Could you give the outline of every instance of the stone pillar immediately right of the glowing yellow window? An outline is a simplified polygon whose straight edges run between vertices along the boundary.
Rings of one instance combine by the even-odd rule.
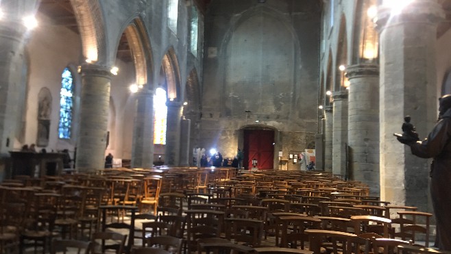
[[[180,166],[180,118],[182,117],[182,103],[168,101],[166,146],[164,151],[164,164],[167,166]]]

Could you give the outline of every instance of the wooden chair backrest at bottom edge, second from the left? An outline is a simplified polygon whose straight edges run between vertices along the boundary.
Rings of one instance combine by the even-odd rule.
[[[116,232],[95,232],[91,238],[91,252],[94,253],[105,253],[106,250],[114,250],[116,254],[122,254],[125,246],[125,240],[127,235]],[[108,244],[106,244],[106,240]]]

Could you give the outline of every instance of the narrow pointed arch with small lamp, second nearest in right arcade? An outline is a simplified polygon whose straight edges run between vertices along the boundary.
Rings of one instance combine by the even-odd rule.
[[[338,38],[338,47],[337,47],[337,58],[335,62],[335,84],[334,91],[339,91],[344,89],[345,86],[345,69],[340,70],[339,67],[341,65],[348,65],[348,39],[347,39],[347,31],[346,31],[346,17],[344,14],[341,15],[340,19],[340,29],[339,29],[339,38]]]

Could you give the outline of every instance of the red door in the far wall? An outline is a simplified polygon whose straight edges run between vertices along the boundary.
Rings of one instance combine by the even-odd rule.
[[[244,131],[244,166],[252,168],[252,160],[257,160],[258,169],[274,167],[274,131]]]

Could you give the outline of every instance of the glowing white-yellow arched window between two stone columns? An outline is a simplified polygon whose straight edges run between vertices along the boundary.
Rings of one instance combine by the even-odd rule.
[[[166,91],[156,88],[154,95],[154,144],[166,144]]]

